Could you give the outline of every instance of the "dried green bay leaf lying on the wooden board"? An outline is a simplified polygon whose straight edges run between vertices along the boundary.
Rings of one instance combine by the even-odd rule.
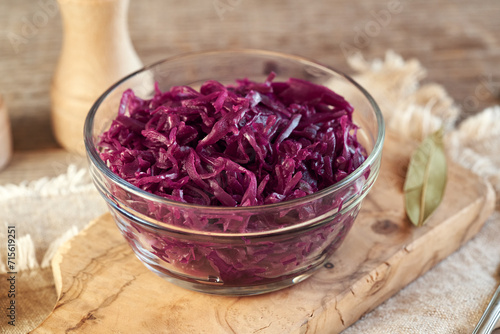
[[[446,188],[447,163],[443,130],[427,136],[413,152],[404,184],[406,214],[423,226],[441,203]]]

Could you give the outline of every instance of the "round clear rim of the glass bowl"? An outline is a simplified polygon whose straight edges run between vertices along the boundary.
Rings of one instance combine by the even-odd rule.
[[[278,202],[278,203],[272,203],[272,204],[263,204],[263,205],[254,205],[254,206],[238,206],[238,207],[229,207],[229,206],[209,206],[209,205],[200,205],[200,204],[192,204],[192,203],[183,203],[183,202],[177,202],[173,201],[167,198],[164,198],[159,195],[152,194],[150,192],[147,192],[143,189],[140,189],[139,187],[134,186],[133,184],[127,182],[126,180],[120,178],[118,175],[113,173],[111,169],[106,165],[106,163],[100,158],[98,151],[94,147],[93,143],[93,123],[94,123],[94,118],[95,115],[101,106],[101,104],[104,102],[104,100],[115,90],[117,89],[121,84],[126,82],[127,80],[133,78],[134,76],[146,72],[150,69],[153,69],[163,63],[166,62],[172,62],[176,61],[182,58],[188,58],[188,57],[202,57],[202,56],[210,56],[210,55],[217,55],[217,54],[247,54],[247,55],[260,55],[260,56],[271,56],[275,58],[280,58],[280,59],[287,59],[287,60],[293,60],[296,61],[297,63],[302,63],[304,65],[311,65],[315,68],[321,68],[322,70],[326,72],[332,72],[336,75],[339,75],[346,79],[351,85],[353,85],[357,90],[359,90],[364,97],[367,99],[371,107],[373,108],[373,111],[375,113],[375,118],[377,121],[377,134],[375,138],[375,144],[373,146],[372,151],[370,154],[366,157],[365,161],[358,167],[356,168],[352,173],[350,173],[348,176],[346,176],[344,179],[341,181],[332,184],[324,189],[321,189],[313,194],[306,195],[304,197],[288,200],[288,201],[283,201],[283,202]],[[174,55],[171,57],[164,58],[162,60],[159,60],[157,62],[154,62],[150,65],[144,66],[141,69],[138,69],[129,75],[123,77],[122,79],[118,80],[115,82],[113,85],[111,85],[104,93],[102,93],[99,98],[94,102],[92,107],[90,108],[86,118],[85,118],[85,123],[84,123],[84,142],[85,142],[85,151],[87,154],[87,158],[90,160],[90,162],[98,168],[98,170],[103,173],[107,178],[111,179],[113,182],[117,183],[120,187],[123,189],[141,196],[143,198],[146,198],[152,202],[155,203],[162,203],[162,204],[167,204],[169,206],[173,206],[176,208],[189,208],[189,209],[202,209],[207,212],[211,211],[217,211],[218,213],[220,212],[227,212],[227,213],[235,213],[237,214],[238,212],[247,212],[247,211],[264,211],[264,210],[275,210],[277,208],[284,208],[286,206],[295,206],[297,204],[301,203],[307,203],[314,201],[316,199],[319,199],[321,197],[324,197],[328,194],[331,194],[335,191],[338,191],[339,189],[342,189],[344,186],[347,184],[353,182],[354,180],[358,179],[365,171],[368,169],[376,159],[378,159],[381,154],[382,154],[382,148],[383,148],[383,143],[384,143],[384,137],[385,137],[385,122],[384,118],[382,115],[382,112],[373,99],[373,97],[366,91],[364,87],[362,87],[360,84],[358,84],[354,79],[352,79],[350,76],[344,74],[341,71],[338,71],[330,66],[324,65],[322,63],[319,63],[315,60],[303,57],[303,56],[298,56],[294,54],[288,54],[288,53],[282,53],[282,52],[276,52],[276,51],[269,51],[269,50],[261,50],[261,49],[223,49],[223,50],[208,50],[208,51],[196,51],[196,52],[188,52],[188,53],[181,53],[178,55]],[[346,208],[343,208],[346,209]],[[344,210],[339,210],[338,212],[341,212]],[[168,224],[171,226],[170,224]],[[295,225],[293,225],[295,226]],[[189,229],[188,229],[189,230]],[[193,231],[193,230],[190,230]],[[244,234],[244,233],[241,233]]]

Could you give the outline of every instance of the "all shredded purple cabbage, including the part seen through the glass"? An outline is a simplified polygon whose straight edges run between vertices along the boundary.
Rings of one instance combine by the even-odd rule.
[[[359,210],[335,215],[359,195],[360,182],[313,201],[273,210],[207,214],[204,206],[255,207],[313,194],[358,168],[353,107],[330,89],[301,79],[224,86],[203,83],[160,91],[144,100],[127,90],[118,116],[98,142],[102,160],[132,185],[192,209],[140,198],[119,187],[112,195],[141,214],[203,232],[277,230],[311,219],[322,223],[284,235],[219,237],[139,224],[113,211],[122,233],[155,270],[227,285],[267,284],[307,272],[342,243]]]

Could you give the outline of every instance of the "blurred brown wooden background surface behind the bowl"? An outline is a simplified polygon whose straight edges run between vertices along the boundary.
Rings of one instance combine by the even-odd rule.
[[[144,64],[198,50],[259,48],[351,73],[346,56],[393,50],[416,58],[463,112],[498,103],[498,0],[130,0],[128,25]],[[50,84],[62,44],[56,0],[1,0],[0,95],[15,152],[57,148]],[[26,138],[31,138],[26,140]]]

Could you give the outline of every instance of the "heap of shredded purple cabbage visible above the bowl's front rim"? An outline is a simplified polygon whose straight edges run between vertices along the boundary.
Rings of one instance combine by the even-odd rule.
[[[358,168],[366,152],[353,107],[324,86],[273,79],[156,86],[149,100],[127,90],[100,137],[101,158],[150,193],[229,207],[303,197]]]

